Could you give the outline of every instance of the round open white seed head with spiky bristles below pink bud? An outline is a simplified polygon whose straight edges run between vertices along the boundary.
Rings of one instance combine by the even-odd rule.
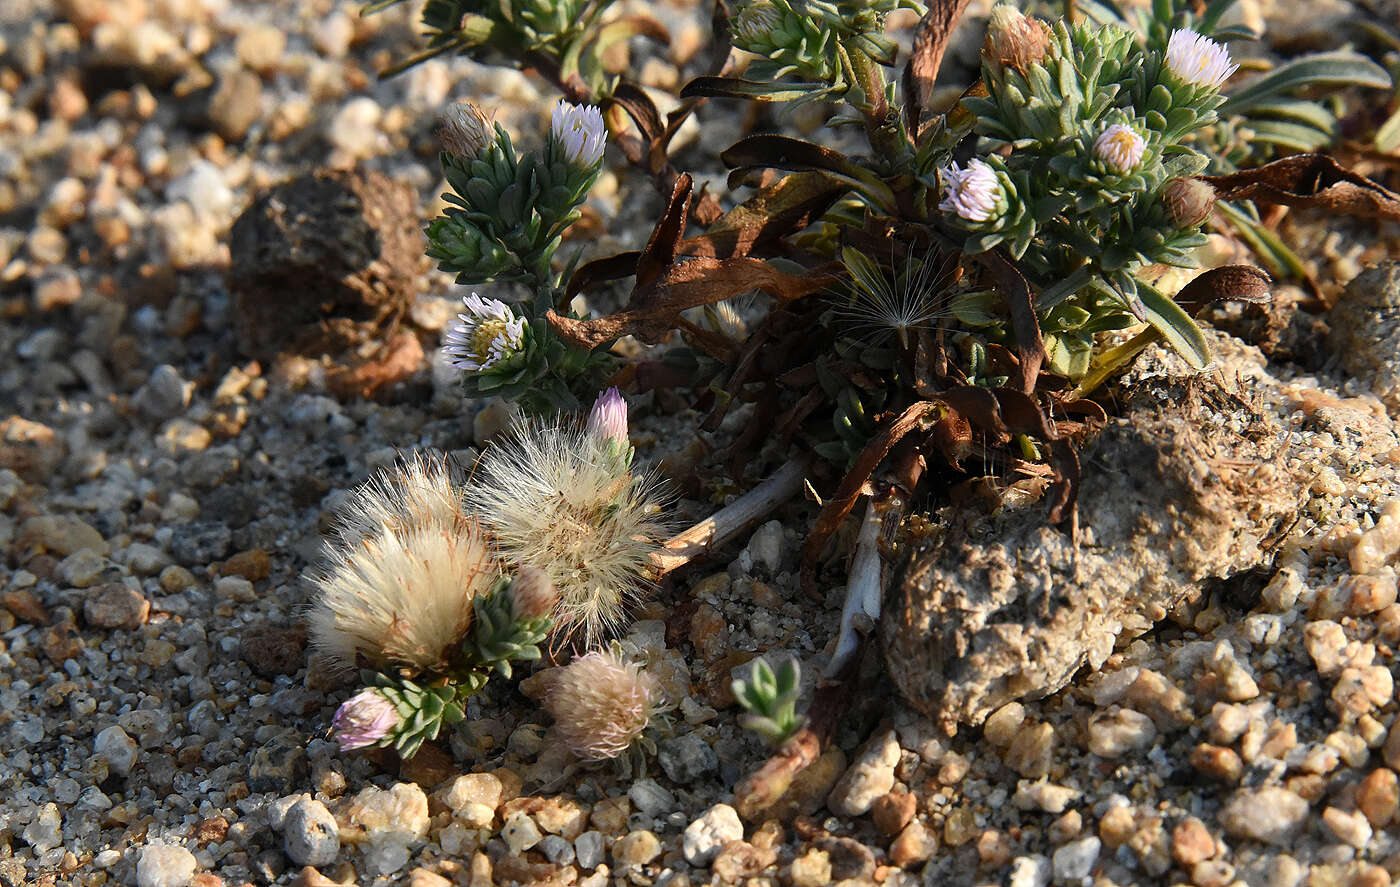
[[[657,487],[578,424],[522,423],[482,456],[466,499],[503,560],[559,589],[559,635],[592,645],[651,585],[666,530]]]

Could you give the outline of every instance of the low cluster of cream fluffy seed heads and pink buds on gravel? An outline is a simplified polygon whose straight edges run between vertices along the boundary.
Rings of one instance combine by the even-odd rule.
[[[470,309],[504,329],[500,304],[472,298]],[[332,721],[342,750],[412,757],[465,716],[468,697],[493,674],[510,679],[512,665],[539,659],[552,632],[581,630],[596,642],[650,579],[655,511],[654,483],[631,470],[617,389],[599,395],[587,418],[525,423],[487,450],[466,485],[427,456],[361,485],[326,544],[326,565],[311,574],[314,645],[333,665],[367,667],[367,688]],[[577,673],[608,672],[599,667]],[[613,739],[645,726],[654,695],[630,666],[616,667],[630,681],[631,721]],[[570,709],[575,722],[594,702],[620,698],[591,693]],[[613,739],[585,757],[606,757]]]

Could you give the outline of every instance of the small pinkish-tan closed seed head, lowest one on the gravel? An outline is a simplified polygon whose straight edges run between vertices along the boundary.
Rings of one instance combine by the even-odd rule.
[[[659,701],[655,679],[612,651],[596,651],[559,670],[545,709],[570,751],[602,761],[641,736]]]

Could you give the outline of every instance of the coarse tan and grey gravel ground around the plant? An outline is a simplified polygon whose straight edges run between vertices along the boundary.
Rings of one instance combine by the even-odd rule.
[[[1301,6],[1247,13],[1285,24],[1289,46],[1357,15]],[[707,13],[650,10],[673,41],[640,69],[673,87]],[[382,172],[420,218],[435,211],[431,127],[449,98],[522,141],[542,132],[552,95],[522,74],[452,60],[377,81],[413,21],[328,0],[0,10],[0,887],[1400,877],[1400,409],[1372,393],[1393,397],[1379,385],[1394,357],[1368,357],[1364,329],[1393,340],[1396,274],[1355,285],[1373,312],[1348,313],[1337,348],[1313,315],[1284,320],[1312,347],[1274,360],[1219,339],[1215,379],[1289,435],[1298,522],[1268,569],[1207,589],[1064,691],[955,737],[874,694],[783,803],[741,820],[734,785],[766,750],[735,723],[731,672],[788,651],[816,674],[834,645],[840,564],[819,606],[798,595],[812,508],[795,504],[629,630],[678,701],[644,772],[570,762],[528,680],[475,701],[449,754],[403,769],[340,755],[326,725],[353,688],[308,658],[298,623],[321,532],[398,452],[469,463],[507,411],[465,404],[431,365],[455,298],[441,274],[420,277],[393,368],[368,347],[249,360],[224,271],[253,194],[321,166]],[[710,113],[682,157],[722,183],[701,158],[742,123]],[[636,246],[657,204],[606,172],[589,248]],[[1397,234],[1341,231],[1345,246],[1317,249],[1327,291]],[[1306,367],[1277,357],[1303,351]],[[672,464],[752,418],[699,439],[683,406],[637,407],[641,457]],[[678,513],[699,516],[734,490],[687,492]]]

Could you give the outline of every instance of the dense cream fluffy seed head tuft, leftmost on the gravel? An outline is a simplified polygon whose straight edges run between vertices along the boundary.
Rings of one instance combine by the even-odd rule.
[[[363,484],[326,540],[311,574],[311,641],[346,667],[440,666],[497,574],[445,462],[417,456]]]

